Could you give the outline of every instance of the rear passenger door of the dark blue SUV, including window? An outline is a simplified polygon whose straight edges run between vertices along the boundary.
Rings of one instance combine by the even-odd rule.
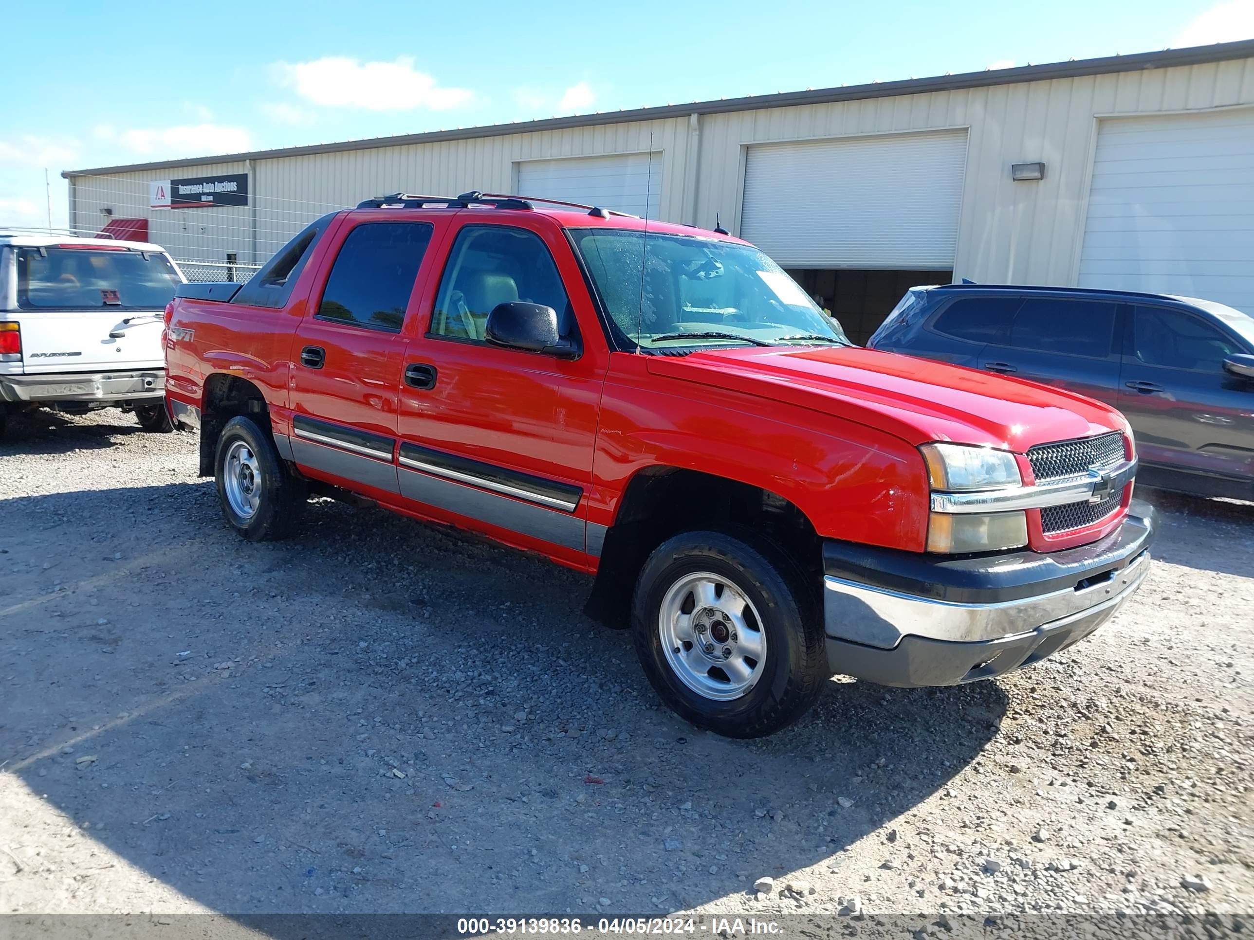
[[[1070,297],[1026,297],[1004,345],[984,347],[981,367],[1119,401],[1119,305]]]

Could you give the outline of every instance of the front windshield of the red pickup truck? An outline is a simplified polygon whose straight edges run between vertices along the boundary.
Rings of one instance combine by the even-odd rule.
[[[695,236],[576,229],[602,303],[645,350],[849,346],[840,323],[757,248]]]

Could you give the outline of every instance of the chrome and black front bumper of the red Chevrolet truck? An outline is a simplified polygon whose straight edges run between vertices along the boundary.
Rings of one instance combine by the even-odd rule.
[[[1115,615],[1150,567],[1154,510],[1056,553],[938,558],[829,541],[824,622],[834,673],[953,686],[1045,659]]]

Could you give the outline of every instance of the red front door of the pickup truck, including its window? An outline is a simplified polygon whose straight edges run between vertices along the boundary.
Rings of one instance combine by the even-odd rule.
[[[547,219],[464,223],[434,296],[424,298],[423,335],[405,352],[398,456],[400,493],[415,511],[577,567],[587,564],[586,503],[607,365],[582,285],[569,246]],[[563,360],[485,342],[488,315],[510,301],[553,307],[583,355]]]

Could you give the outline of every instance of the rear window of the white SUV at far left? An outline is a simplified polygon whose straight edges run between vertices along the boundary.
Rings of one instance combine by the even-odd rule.
[[[23,310],[161,310],[181,281],[161,252],[19,248]]]

